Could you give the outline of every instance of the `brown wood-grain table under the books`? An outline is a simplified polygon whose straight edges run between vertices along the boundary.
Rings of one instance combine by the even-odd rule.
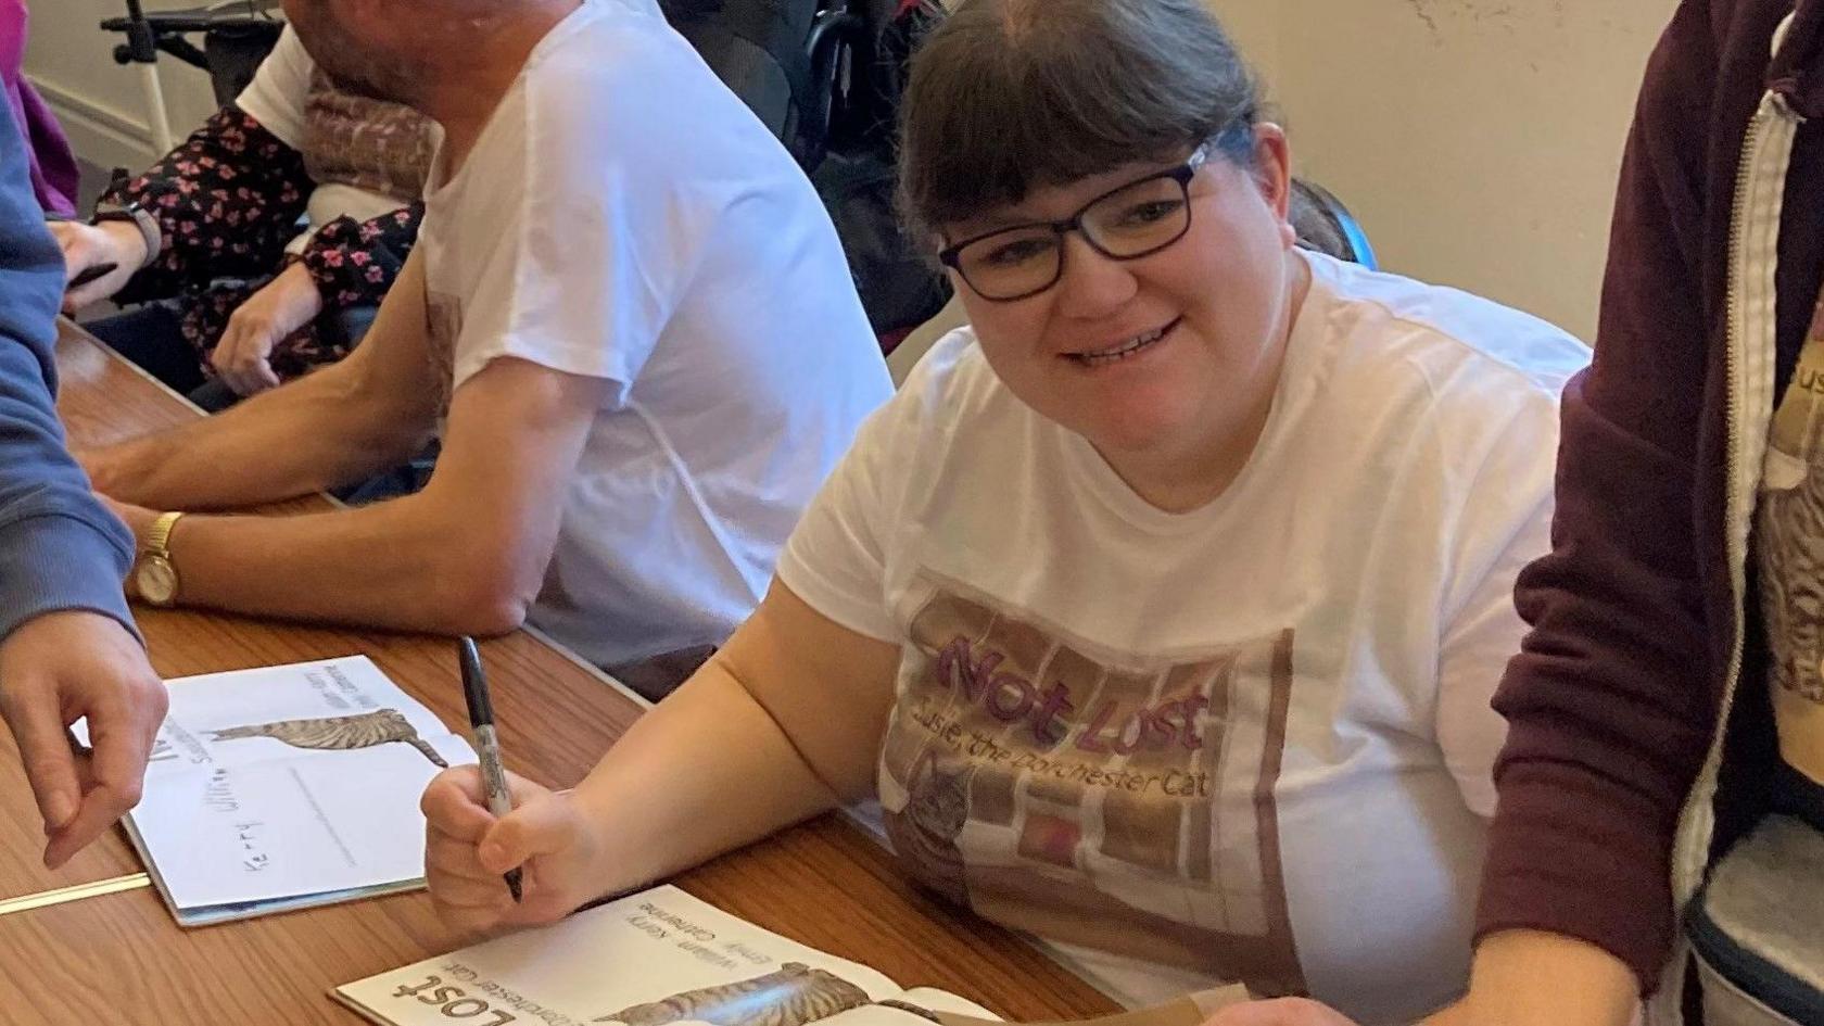
[[[58,409],[77,445],[181,424],[197,413],[66,325]],[[193,612],[139,610],[166,677],[367,654],[445,723],[465,721],[445,639],[321,630]],[[642,705],[607,677],[514,633],[482,648],[502,745],[514,769],[575,783]],[[40,864],[40,822],[11,736],[0,730],[0,896],[137,873],[109,832],[60,873]],[[826,816],[679,880],[768,929],[872,964],[903,986],[939,986],[1009,1019],[1074,1019],[1113,1004],[1052,960],[908,887],[876,842]],[[420,891],[348,906],[181,929],[151,889],[0,916],[0,1022],[277,1024],[359,1019],[326,991],[447,951]]]

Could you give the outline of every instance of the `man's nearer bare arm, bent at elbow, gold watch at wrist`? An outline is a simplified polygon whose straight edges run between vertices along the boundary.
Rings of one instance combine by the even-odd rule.
[[[607,383],[502,358],[456,391],[418,495],[303,517],[184,517],[179,602],[438,633],[525,619]],[[144,539],[153,513],[122,508]]]

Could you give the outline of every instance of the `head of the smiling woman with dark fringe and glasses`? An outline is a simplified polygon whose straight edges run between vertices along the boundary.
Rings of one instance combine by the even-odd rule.
[[[1007,387],[1191,509],[1253,449],[1308,287],[1284,135],[1197,4],[1036,15],[998,5],[927,44],[905,208]]]

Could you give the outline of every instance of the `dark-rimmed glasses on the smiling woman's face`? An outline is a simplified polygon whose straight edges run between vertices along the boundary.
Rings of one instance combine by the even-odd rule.
[[[961,274],[976,296],[1010,303],[1063,277],[1063,237],[1071,232],[1082,232],[1089,248],[1109,259],[1156,254],[1191,230],[1191,179],[1211,148],[1206,142],[1169,172],[1116,186],[1063,221],[996,228],[945,248],[938,261]]]

